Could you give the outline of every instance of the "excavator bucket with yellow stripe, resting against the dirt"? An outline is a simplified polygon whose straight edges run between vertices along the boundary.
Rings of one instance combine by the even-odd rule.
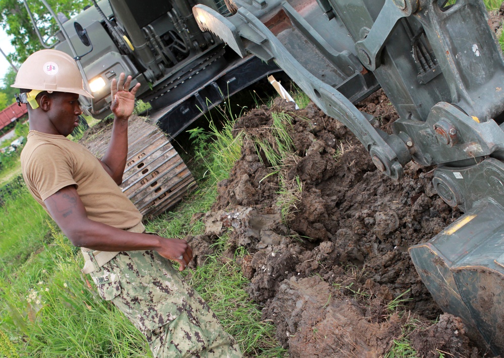
[[[461,317],[474,341],[504,354],[504,208],[481,201],[409,253],[442,310]]]

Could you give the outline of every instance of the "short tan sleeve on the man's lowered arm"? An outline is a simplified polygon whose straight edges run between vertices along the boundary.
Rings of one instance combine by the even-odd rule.
[[[33,151],[23,168],[27,185],[38,192],[42,201],[66,186],[75,185],[77,188],[73,173],[71,156],[51,144],[41,145]]]

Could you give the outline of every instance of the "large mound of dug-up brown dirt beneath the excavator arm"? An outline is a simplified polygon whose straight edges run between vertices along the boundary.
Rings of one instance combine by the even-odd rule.
[[[359,108],[389,132],[397,119],[381,91]],[[291,356],[380,357],[398,342],[410,356],[483,356],[458,318],[441,315],[407,251],[461,214],[437,196],[433,168],[410,163],[398,181],[382,175],[355,136],[313,104],[295,110],[278,99],[234,131],[241,158],[202,218],[205,235],[192,240],[232,228],[229,257],[246,249],[238,262],[247,292]]]

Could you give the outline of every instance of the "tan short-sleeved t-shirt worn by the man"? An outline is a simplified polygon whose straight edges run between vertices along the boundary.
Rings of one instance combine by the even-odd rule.
[[[129,229],[142,214],[86,148],[62,135],[30,131],[21,152],[23,177],[44,209],[44,200],[68,185],[77,188],[88,218]]]

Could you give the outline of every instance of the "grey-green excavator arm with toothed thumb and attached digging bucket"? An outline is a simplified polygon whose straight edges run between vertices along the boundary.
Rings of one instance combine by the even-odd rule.
[[[414,161],[464,214],[409,248],[443,311],[504,354],[504,60],[481,0],[227,0],[200,28],[241,57],[275,63],[400,179]],[[355,104],[382,88],[393,133]]]

